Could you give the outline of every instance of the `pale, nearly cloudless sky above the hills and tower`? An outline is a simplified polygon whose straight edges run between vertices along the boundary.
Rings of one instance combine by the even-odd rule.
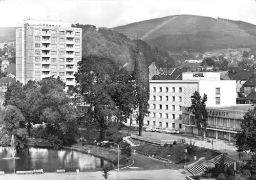
[[[0,0],[0,27],[26,18],[112,28],[146,19],[193,14],[256,25],[255,0]]]

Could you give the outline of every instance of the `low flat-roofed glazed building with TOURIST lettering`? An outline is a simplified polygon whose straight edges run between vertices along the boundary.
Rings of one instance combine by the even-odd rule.
[[[241,131],[241,123],[244,115],[253,105],[235,105],[227,107],[207,107],[208,119],[205,137],[214,139],[225,139],[235,141],[236,134]],[[183,126],[185,132],[197,136],[202,136],[202,132],[197,128],[195,115],[187,107],[183,107]]]

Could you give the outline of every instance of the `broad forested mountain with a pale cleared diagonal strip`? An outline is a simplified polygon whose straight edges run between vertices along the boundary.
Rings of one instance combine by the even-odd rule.
[[[135,22],[113,30],[169,52],[256,49],[255,25],[221,18],[174,15]]]

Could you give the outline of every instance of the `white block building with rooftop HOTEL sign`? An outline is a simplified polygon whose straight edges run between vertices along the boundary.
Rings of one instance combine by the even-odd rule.
[[[236,104],[236,81],[222,81],[220,73],[212,72],[183,73],[182,77],[183,80],[150,81],[150,115],[144,118],[144,125],[181,128],[182,107],[191,105],[196,91],[207,95],[206,106]]]

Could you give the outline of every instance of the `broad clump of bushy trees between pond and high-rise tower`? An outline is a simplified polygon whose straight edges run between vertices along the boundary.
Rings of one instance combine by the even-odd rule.
[[[46,124],[45,139],[55,147],[72,144],[77,135],[76,109],[63,91],[65,83],[59,78],[44,78],[23,85],[15,82],[8,87],[4,106],[15,106],[23,117],[23,127],[29,135],[32,124]],[[10,116],[13,121],[15,117]],[[18,127],[15,126],[15,129]],[[12,131],[12,129],[9,129]]]

